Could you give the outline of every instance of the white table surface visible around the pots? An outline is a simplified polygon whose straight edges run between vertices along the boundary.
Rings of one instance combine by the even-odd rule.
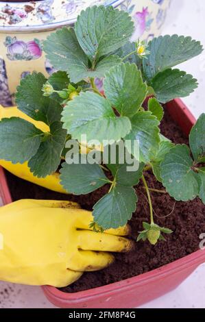
[[[163,34],[183,34],[201,40],[205,47],[204,0],[172,0]],[[180,69],[193,74],[200,83],[195,92],[184,99],[198,117],[205,112],[205,53],[186,62]],[[143,308],[205,308],[205,264],[171,293],[149,302]],[[0,282],[0,308],[54,308],[42,290]]]

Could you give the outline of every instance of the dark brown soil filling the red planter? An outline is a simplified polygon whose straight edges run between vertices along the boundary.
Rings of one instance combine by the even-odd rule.
[[[183,136],[179,127],[171,121],[167,113],[161,129],[162,134],[171,138],[174,143],[188,143],[187,138]],[[163,189],[162,185],[156,182],[151,172],[145,174],[145,176],[150,188]],[[88,196],[64,196],[51,193],[49,190],[25,182],[9,173],[7,173],[7,177],[13,200],[23,198],[69,199],[77,201],[82,208],[88,210],[92,210],[94,203],[108,189],[108,187],[101,188]],[[137,210],[130,221],[132,227],[132,236],[130,237],[135,240],[138,232],[143,230],[143,221],[149,221],[149,205],[141,183],[136,187],[136,191],[138,195]],[[167,241],[161,241],[156,246],[152,246],[148,242],[138,242],[132,252],[116,253],[116,260],[110,267],[95,273],[84,273],[80,280],[71,286],[62,288],[64,292],[77,292],[124,280],[178,260],[199,249],[199,236],[205,232],[205,206],[200,199],[186,203],[175,203],[169,195],[152,193],[152,201],[156,223],[173,230],[173,234],[166,236]],[[173,207],[173,213],[167,216],[173,210]]]

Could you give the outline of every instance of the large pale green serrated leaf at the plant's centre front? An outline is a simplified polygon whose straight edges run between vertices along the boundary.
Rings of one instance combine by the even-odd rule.
[[[62,112],[64,129],[73,138],[81,140],[86,134],[87,141],[120,140],[130,132],[128,117],[114,115],[107,99],[93,92],[83,92],[69,101]]]

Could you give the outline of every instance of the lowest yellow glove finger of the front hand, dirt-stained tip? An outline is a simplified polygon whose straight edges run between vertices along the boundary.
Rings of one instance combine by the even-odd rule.
[[[83,251],[79,249],[68,261],[67,267],[73,271],[99,271],[108,267],[114,261],[114,256],[104,251]]]

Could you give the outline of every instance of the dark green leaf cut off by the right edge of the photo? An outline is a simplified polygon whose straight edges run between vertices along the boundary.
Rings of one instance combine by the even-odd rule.
[[[205,114],[202,114],[191,129],[189,144],[195,162],[205,162]]]

